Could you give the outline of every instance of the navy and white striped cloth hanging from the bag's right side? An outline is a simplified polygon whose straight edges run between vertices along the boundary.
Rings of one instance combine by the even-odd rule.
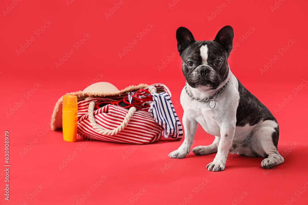
[[[130,103],[132,103],[131,96],[133,94],[134,93],[128,93],[128,101]],[[151,107],[148,111],[154,117],[155,121],[164,128],[164,137],[182,139],[183,128],[168,93],[152,93],[151,95],[153,101],[150,101]]]

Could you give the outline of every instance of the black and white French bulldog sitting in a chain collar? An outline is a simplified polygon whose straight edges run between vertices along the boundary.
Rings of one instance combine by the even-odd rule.
[[[217,152],[209,171],[225,169],[229,152],[264,157],[261,167],[284,162],[277,151],[279,127],[270,110],[233,75],[228,65],[233,28],[225,26],[212,41],[196,41],[185,27],[176,30],[177,49],[186,79],[180,96],[184,109],[183,144],[168,156],[184,158],[193,144],[197,124],[215,136],[213,144],[193,148],[196,155]]]

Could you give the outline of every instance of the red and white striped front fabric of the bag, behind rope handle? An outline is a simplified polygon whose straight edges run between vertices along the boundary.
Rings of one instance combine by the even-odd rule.
[[[112,101],[110,98],[96,97],[78,102],[78,136],[91,140],[130,144],[148,144],[161,139],[164,128],[156,123],[151,113],[144,110],[137,110],[130,118],[128,125],[117,134],[112,136],[99,134],[91,126],[88,118],[88,107],[90,101],[97,103],[107,99]],[[113,97],[113,100],[116,101],[118,99]],[[128,109],[110,104],[94,110],[93,115],[96,123],[101,128],[113,130],[123,122],[127,113]]]

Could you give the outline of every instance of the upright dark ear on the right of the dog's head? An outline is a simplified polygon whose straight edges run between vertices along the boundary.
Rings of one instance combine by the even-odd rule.
[[[221,30],[218,31],[214,41],[220,43],[228,53],[232,50],[232,41],[234,33],[231,26],[224,26]]]

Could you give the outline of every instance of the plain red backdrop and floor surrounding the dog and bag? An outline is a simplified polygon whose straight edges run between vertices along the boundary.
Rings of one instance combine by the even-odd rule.
[[[4,132],[8,130],[11,165],[10,201],[2,194],[1,204],[79,204],[82,196],[86,199],[81,199],[81,204],[184,205],[185,200],[189,200],[187,204],[308,203],[308,86],[301,87],[302,79],[308,76],[307,1],[279,0],[282,4],[277,2],[279,7],[272,12],[274,0],[183,0],[171,8],[172,0],[124,0],[108,19],[104,13],[114,4],[119,6],[119,1],[74,1],[69,6],[64,0],[20,1],[4,15],[3,10],[12,2],[0,3],[0,164],[6,164]],[[217,13],[216,17],[212,12]],[[215,18],[209,21],[210,15]],[[45,21],[51,22],[48,27]],[[38,36],[36,30],[44,24],[47,28]],[[138,35],[148,24],[152,29],[148,27],[147,34]],[[266,170],[260,166],[262,158],[234,155],[229,156],[224,171],[210,172],[205,166],[215,154],[195,156],[191,152],[184,159],[167,157],[183,140],[161,140],[136,147],[83,139],[68,143],[63,141],[61,130],[50,130],[52,110],[59,97],[96,81],[111,82],[119,89],[139,83],[163,83],[172,92],[181,119],[179,97],[185,80],[175,31],[185,26],[195,39],[210,40],[225,25],[231,25],[235,32],[230,68],[277,118],[278,151],[285,163]],[[256,30],[250,30],[246,39],[241,37],[250,27]],[[80,47],[74,46],[84,34],[90,37]],[[18,56],[16,49],[32,36],[35,40]],[[292,39],[295,43],[288,48]],[[120,59],[119,52],[132,42],[137,43]],[[286,52],[281,50],[284,46]],[[57,69],[55,63],[71,49],[72,54],[67,54],[70,57]],[[275,63],[261,74],[260,69],[274,62],[270,59],[275,55]],[[162,65],[168,56],[172,60]],[[157,66],[165,67],[159,70]],[[39,88],[34,87],[35,83]],[[11,108],[16,110],[6,116]],[[278,108],[281,110],[274,112]],[[214,138],[198,128],[195,139],[192,148],[208,145]],[[34,146],[21,157],[29,144]],[[123,159],[129,152],[130,156]],[[58,165],[73,154],[74,159],[60,171]],[[5,176],[1,166],[3,193]],[[101,175],[107,178],[94,187]],[[38,187],[41,185],[42,190]],[[30,194],[37,195],[33,198]]]

